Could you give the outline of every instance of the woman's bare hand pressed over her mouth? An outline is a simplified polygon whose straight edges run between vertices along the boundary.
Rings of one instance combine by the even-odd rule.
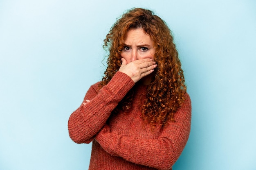
[[[120,72],[127,74],[136,83],[141,78],[152,73],[157,67],[152,59],[139,59],[127,64],[126,59],[121,58],[122,64],[119,68]]]

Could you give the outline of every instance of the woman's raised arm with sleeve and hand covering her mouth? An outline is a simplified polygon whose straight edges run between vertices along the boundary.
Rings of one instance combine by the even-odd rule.
[[[76,143],[90,143],[108,120],[118,102],[132,88],[135,82],[153,72],[157,66],[152,59],[140,59],[122,64],[110,82],[97,94],[97,85],[90,88],[81,106],[74,111],[68,121],[70,138]],[[90,102],[87,103],[87,100]]]

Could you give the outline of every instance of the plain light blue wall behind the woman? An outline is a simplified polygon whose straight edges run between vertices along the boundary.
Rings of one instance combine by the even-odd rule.
[[[1,170],[88,169],[91,145],[72,142],[67,121],[103,76],[103,39],[132,7],[173,31],[191,96],[173,169],[256,169],[256,1],[1,0]]]

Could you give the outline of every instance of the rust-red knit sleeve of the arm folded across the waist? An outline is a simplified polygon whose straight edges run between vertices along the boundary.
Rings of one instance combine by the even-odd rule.
[[[174,118],[176,122],[165,126],[157,139],[130,138],[111,131],[108,125],[103,126],[95,139],[111,155],[136,164],[167,170],[177,161],[189,138],[191,100],[188,94]]]

